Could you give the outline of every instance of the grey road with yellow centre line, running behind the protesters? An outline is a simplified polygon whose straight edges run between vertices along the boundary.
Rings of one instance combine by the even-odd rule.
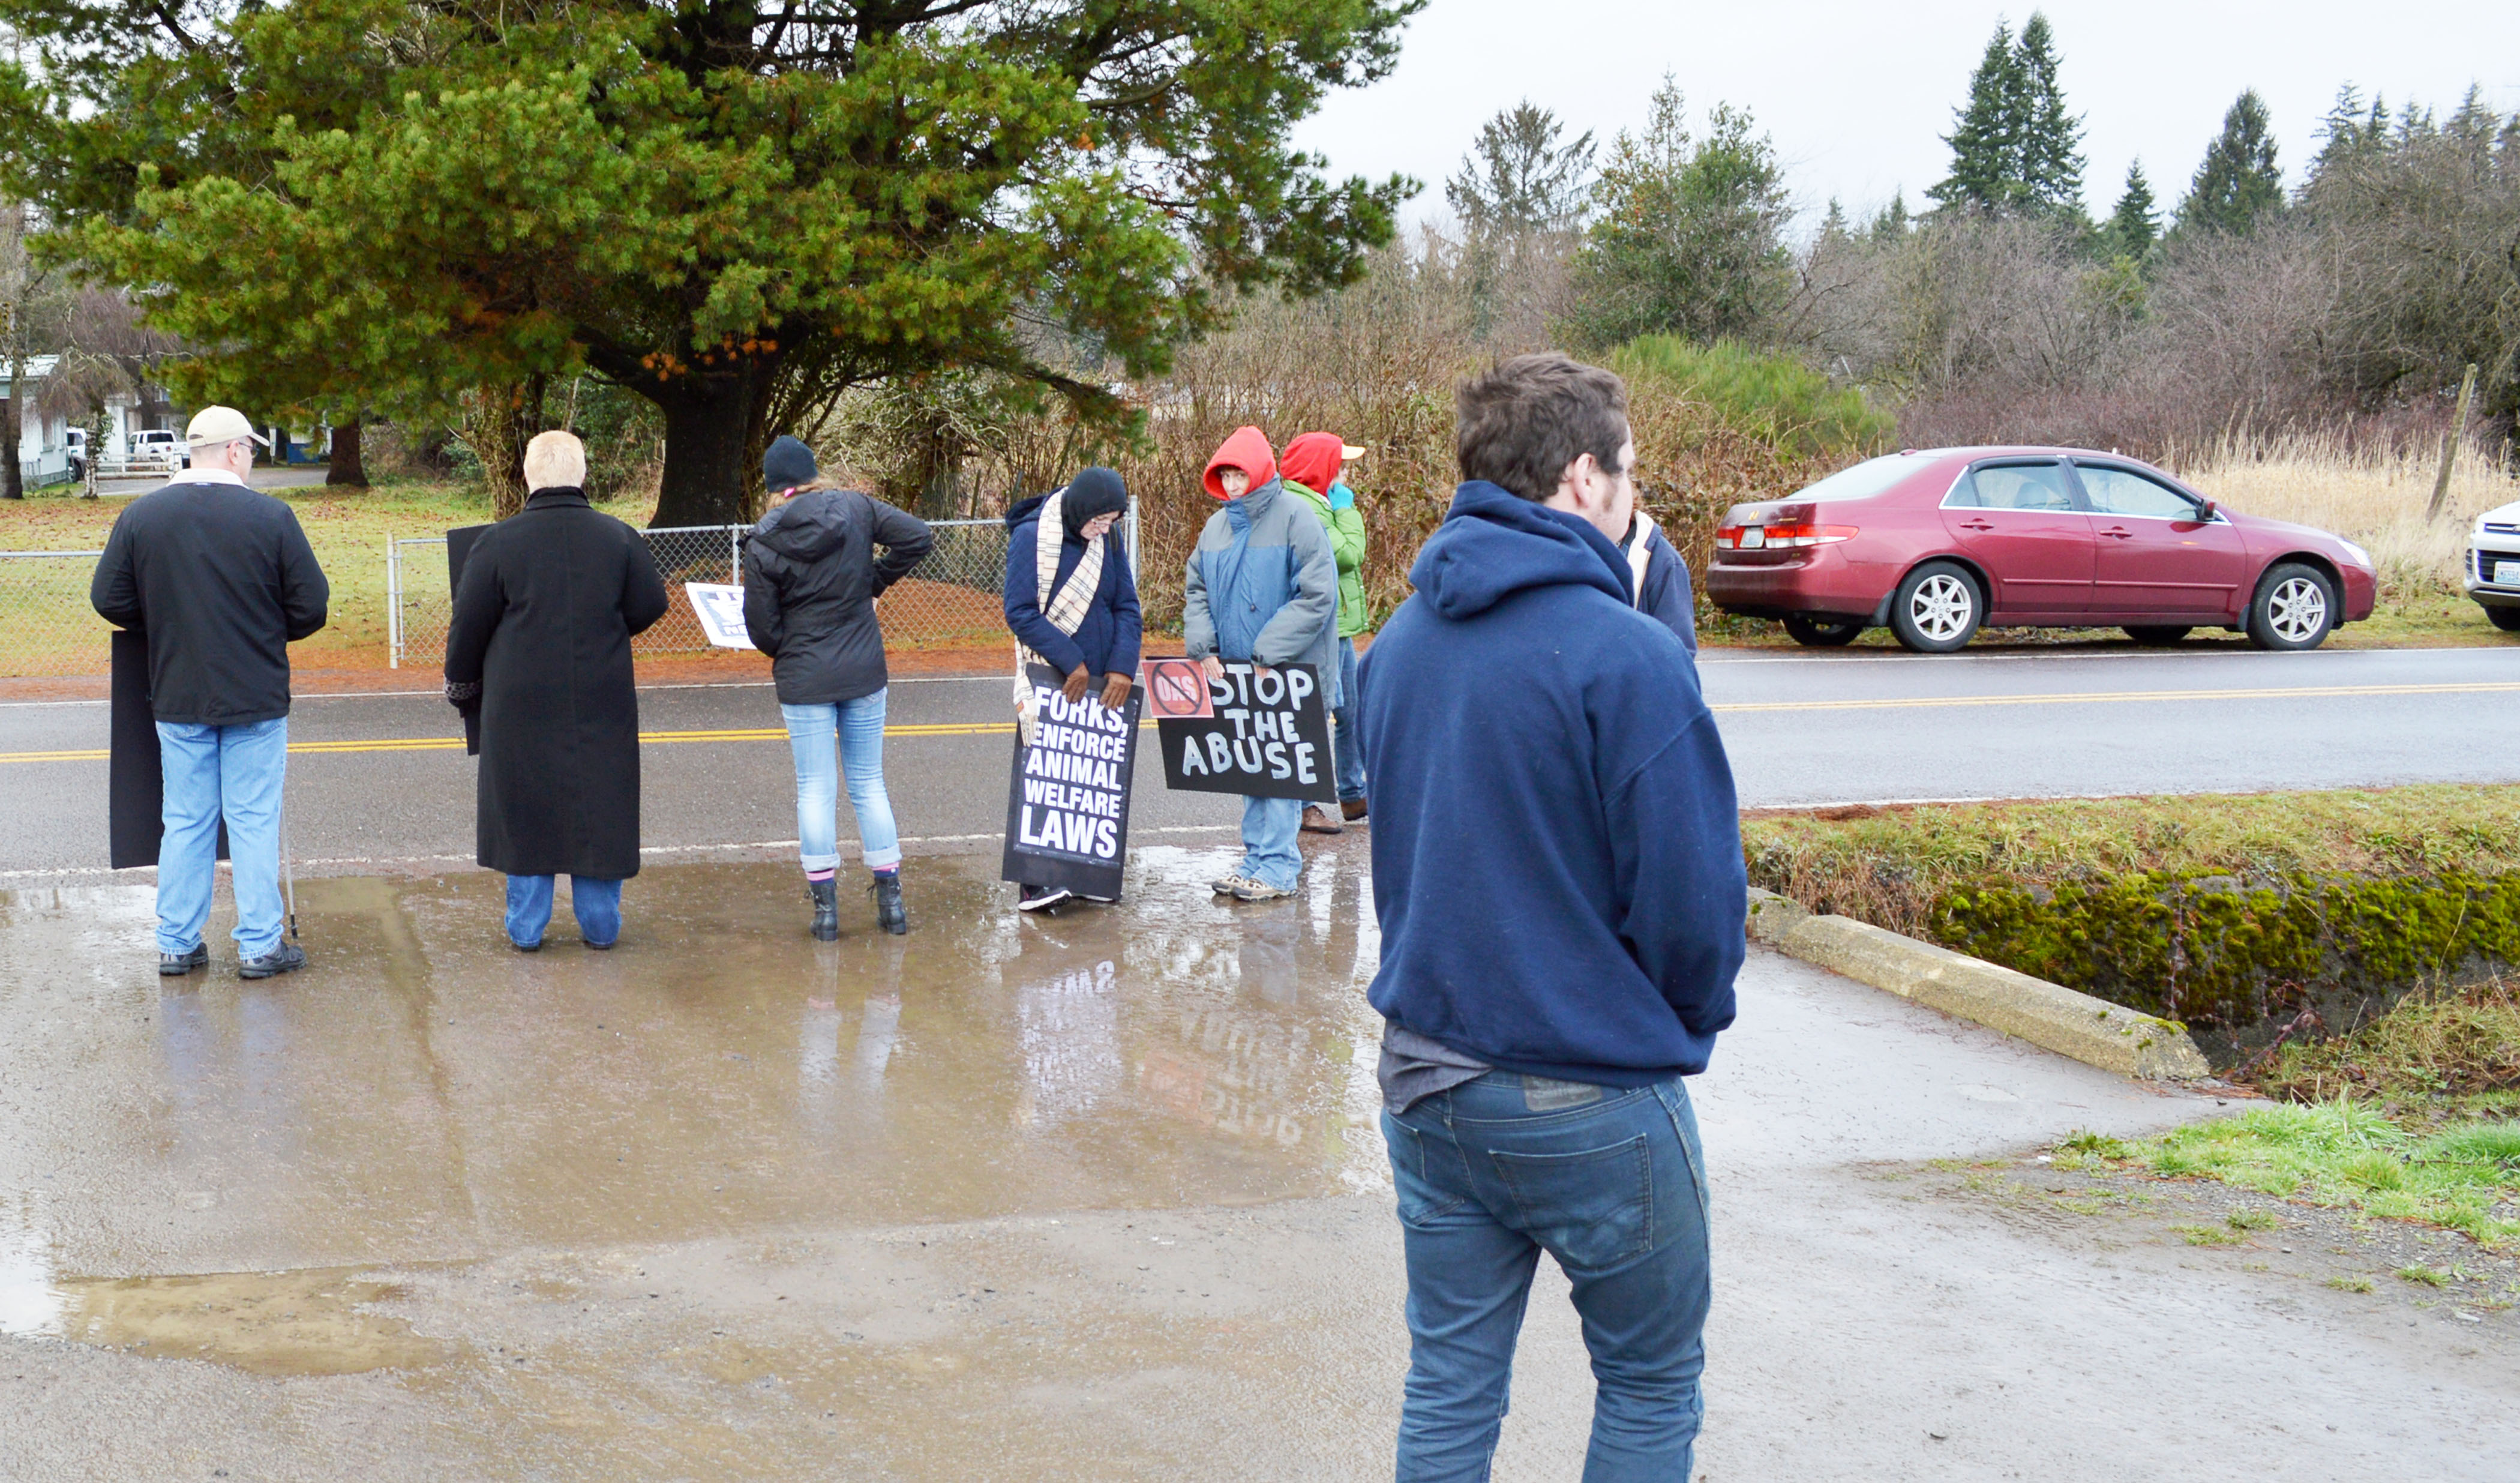
[[[1709,651],[1701,673],[1744,807],[2520,779],[2520,646]],[[396,749],[454,736],[451,721],[433,694],[300,699],[292,744],[353,749],[290,759],[297,858],[318,873],[469,860],[474,764],[461,752]],[[640,721],[774,731],[779,709],[759,683],[650,689]],[[890,724],[1003,726],[1005,681],[900,681]],[[40,757],[103,744],[101,701],[0,704],[0,873],[103,868],[106,764]],[[1005,734],[887,739],[912,850],[983,847],[1003,830],[1008,749]],[[643,830],[663,858],[796,837],[781,739],[663,742],[643,767]],[[1230,800],[1169,792],[1144,752],[1131,840],[1212,837],[1235,820]],[[847,810],[842,837],[854,837]]]

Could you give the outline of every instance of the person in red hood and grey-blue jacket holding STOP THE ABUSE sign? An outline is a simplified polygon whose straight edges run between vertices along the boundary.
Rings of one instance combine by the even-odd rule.
[[[1207,517],[1207,530],[1189,552],[1182,578],[1182,648],[1202,661],[1212,681],[1225,678],[1227,663],[1310,666],[1323,701],[1336,706],[1338,562],[1320,520],[1300,499],[1285,497],[1278,457],[1255,426],[1235,429],[1207,459],[1200,482],[1225,509]],[[1331,759],[1300,759],[1300,767],[1328,769]],[[1295,850],[1300,820],[1300,800],[1245,797],[1242,865],[1212,883],[1217,895],[1293,895],[1295,875],[1303,873],[1303,852]]]

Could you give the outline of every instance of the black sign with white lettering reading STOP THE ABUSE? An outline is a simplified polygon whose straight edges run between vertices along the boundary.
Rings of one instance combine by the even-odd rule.
[[[1300,797],[1338,802],[1331,769],[1331,706],[1320,673],[1308,663],[1255,668],[1227,663],[1207,681],[1215,709],[1205,719],[1157,716],[1164,782],[1187,792]]]

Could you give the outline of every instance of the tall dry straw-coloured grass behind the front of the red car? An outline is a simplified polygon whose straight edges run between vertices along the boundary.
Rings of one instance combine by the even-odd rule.
[[[2185,467],[2180,467],[2185,464]],[[2477,515],[2520,499],[2520,482],[2482,444],[2460,446],[2439,520],[2424,520],[2442,449],[2366,444],[2341,434],[2265,441],[2223,439],[2172,464],[2197,492],[2243,515],[2291,520],[2361,542],[2379,567],[2381,600],[2460,590]]]

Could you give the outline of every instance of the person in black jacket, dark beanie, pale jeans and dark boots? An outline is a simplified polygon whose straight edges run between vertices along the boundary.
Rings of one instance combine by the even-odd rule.
[[[771,683],[796,757],[796,852],[814,938],[839,938],[839,774],[872,880],[874,926],[910,931],[902,835],[885,792],[885,631],[874,600],[920,565],[927,522],[857,489],[827,489],[814,449],[781,436],[761,457],[776,504],[743,537],[743,625],[771,656]],[[877,555],[882,547],[882,555]],[[834,762],[837,749],[837,762]]]

